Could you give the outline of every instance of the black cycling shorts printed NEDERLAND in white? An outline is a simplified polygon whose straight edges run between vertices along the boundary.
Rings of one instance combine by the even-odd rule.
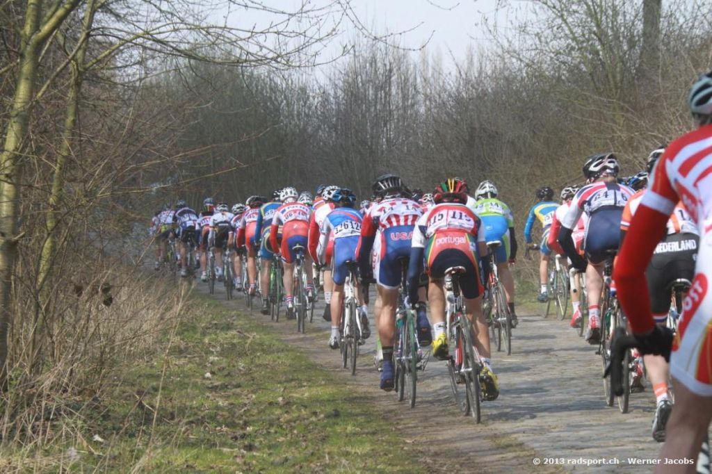
[[[666,236],[656,247],[646,270],[651,310],[656,315],[670,309],[670,292],[679,278],[692,281],[699,237],[693,233]]]

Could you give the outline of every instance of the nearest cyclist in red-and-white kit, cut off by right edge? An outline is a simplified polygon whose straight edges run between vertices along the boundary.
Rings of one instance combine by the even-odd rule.
[[[633,217],[614,271],[619,300],[642,354],[670,360],[675,409],[666,426],[661,459],[696,459],[712,418],[712,319],[709,263],[712,261],[712,72],[693,84],[689,106],[697,129],[669,144],[656,163],[649,189]],[[678,201],[700,233],[692,288],[678,334],[655,325],[644,272]],[[658,465],[656,472],[693,472],[690,465]]]

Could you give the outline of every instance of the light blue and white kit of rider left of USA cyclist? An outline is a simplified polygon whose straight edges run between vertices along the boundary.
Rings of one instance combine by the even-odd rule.
[[[324,219],[323,233],[319,238],[319,261],[324,263],[326,243],[333,236],[334,248],[332,258],[333,280],[337,285],[343,285],[348,275],[346,262],[356,261],[356,248],[361,235],[363,218],[356,209],[340,207],[331,211]]]

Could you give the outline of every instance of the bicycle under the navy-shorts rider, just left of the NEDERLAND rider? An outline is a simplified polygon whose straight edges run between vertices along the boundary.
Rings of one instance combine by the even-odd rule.
[[[617,328],[625,330],[626,322],[622,309],[618,303],[618,298],[614,290],[611,288],[613,274],[613,259],[618,251],[607,251],[606,261],[603,268],[604,281],[604,297],[601,306],[601,340],[599,342],[598,353],[601,356],[602,373],[606,373],[606,369],[611,359],[610,339]],[[610,380],[606,377],[603,379],[604,393],[606,395],[606,404],[613,406],[614,399],[618,402],[618,408],[621,413],[628,412],[628,401],[630,396],[630,379],[631,369],[634,360],[631,351],[626,351],[623,359],[622,375],[623,375],[623,392],[616,395]]]

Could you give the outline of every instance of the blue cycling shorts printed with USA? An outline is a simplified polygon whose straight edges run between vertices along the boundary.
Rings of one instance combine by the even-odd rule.
[[[410,258],[414,226],[381,229],[374,242],[373,277],[384,288],[399,288],[403,278],[403,259]]]

